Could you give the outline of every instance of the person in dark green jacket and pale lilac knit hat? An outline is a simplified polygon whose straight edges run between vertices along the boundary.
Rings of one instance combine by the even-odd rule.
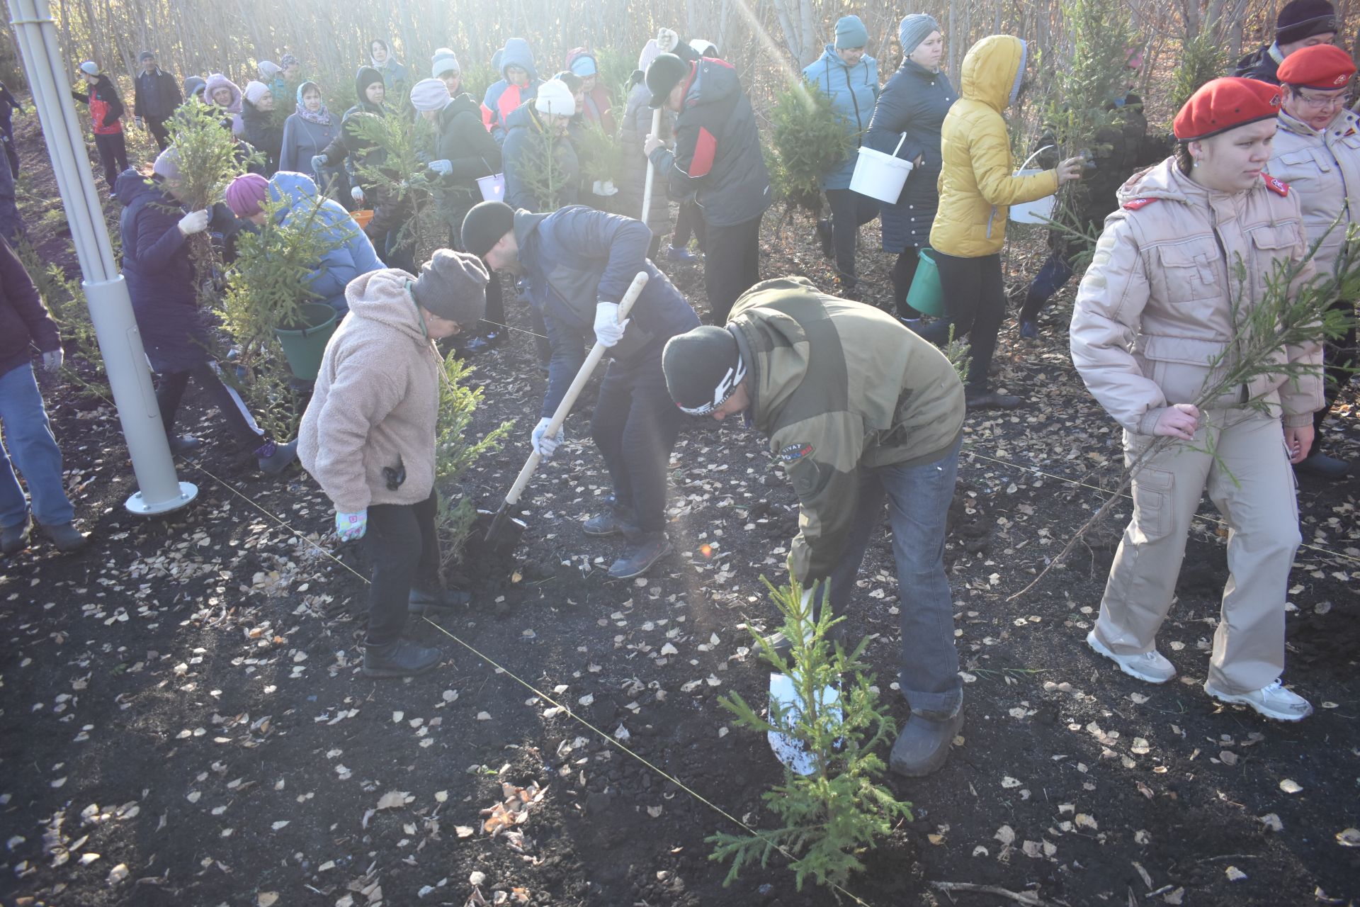
[[[452,50],[447,52],[452,56]],[[481,110],[469,94],[450,94],[457,87],[457,58],[453,58],[453,86],[445,76],[422,79],[411,88],[411,103],[434,126],[434,159],[430,174],[434,179],[434,203],[439,218],[449,227],[449,245],[464,249],[462,219],[473,201],[481,199],[477,179],[500,173],[500,146],[481,125]],[[441,72],[439,53],[435,72]],[[462,344],[464,352],[486,352],[500,344],[506,311],[500,295],[500,279],[491,275],[487,281],[486,320],[468,325],[471,335]]]

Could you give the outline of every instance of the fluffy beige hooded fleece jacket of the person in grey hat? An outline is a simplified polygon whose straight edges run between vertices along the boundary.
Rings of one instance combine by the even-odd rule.
[[[321,359],[298,430],[298,457],[341,513],[413,504],[434,488],[439,354],[404,271],[370,271],[345,288],[350,315]],[[394,491],[384,468],[405,469]]]

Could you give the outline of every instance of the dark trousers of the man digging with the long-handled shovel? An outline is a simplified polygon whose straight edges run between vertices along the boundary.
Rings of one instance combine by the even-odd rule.
[[[613,480],[616,506],[631,506],[645,533],[666,526],[666,466],[683,420],[666,392],[661,344],[631,369],[609,360],[590,435]]]

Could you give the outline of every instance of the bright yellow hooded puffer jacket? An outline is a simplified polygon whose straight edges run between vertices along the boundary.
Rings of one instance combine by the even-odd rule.
[[[972,45],[963,58],[959,99],[940,129],[940,212],[930,227],[930,246],[948,256],[981,258],[1001,252],[1010,205],[1058,190],[1057,170],[1012,175],[1010,137],[1001,112],[1010,106],[1024,60],[1024,41],[1001,34]]]

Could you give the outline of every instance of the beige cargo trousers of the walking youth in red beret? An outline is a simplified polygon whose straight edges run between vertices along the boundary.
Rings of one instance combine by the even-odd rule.
[[[1125,431],[1125,465],[1152,441]],[[1209,681],[1220,692],[1251,692],[1284,670],[1285,590],[1302,541],[1293,469],[1278,419],[1247,409],[1206,411],[1194,442],[1172,443],[1138,470],[1133,519],[1115,552],[1095,634],[1119,655],[1152,650],[1171,611],[1186,536],[1205,488],[1228,524],[1228,585]]]

